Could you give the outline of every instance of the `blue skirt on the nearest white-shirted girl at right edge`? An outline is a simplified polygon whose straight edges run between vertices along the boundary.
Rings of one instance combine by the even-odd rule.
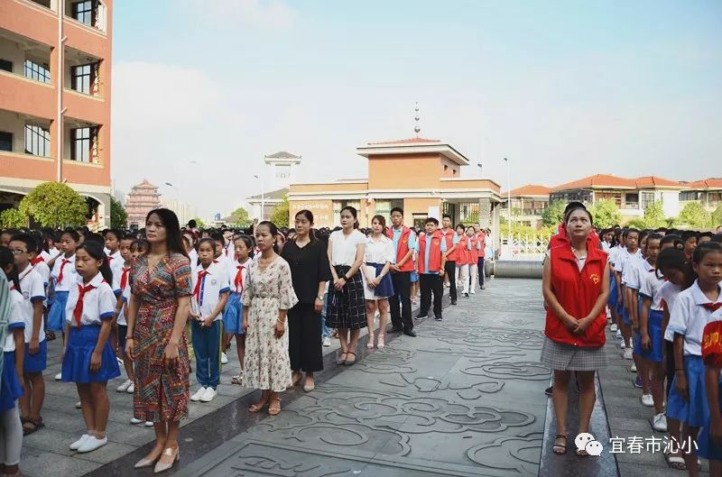
[[[667,417],[677,419],[690,427],[702,427],[709,421],[707,391],[705,390],[705,364],[701,356],[688,354],[684,357],[684,372],[690,390],[686,401],[677,392],[677,376],[671,381],[670,398],[667,399]]]

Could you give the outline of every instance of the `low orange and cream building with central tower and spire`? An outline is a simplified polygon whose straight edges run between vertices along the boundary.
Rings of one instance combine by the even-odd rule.
[[[345,206],[358,210],[362,227],[375,215],[391,225],[391,209],[403,207],[405,225],[423,227],[427,217],[444,214],[454,224],[473,224],[498,230],[502,200],[499,184],[491,179],[462,179],[467,157],[451,144],[413,137],[390,142],[370,142],[356,148],[366,158],[364,179],[340,179],[327,183],[292,183],[289,186],[291,219],[309,209],[317,227],[340,224]],[[292,220],[291,220],[292,224]]]

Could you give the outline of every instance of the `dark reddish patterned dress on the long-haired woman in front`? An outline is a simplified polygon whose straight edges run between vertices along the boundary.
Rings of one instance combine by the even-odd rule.
[[[131,269],[131,292],[139,300],[135,319],[133,396],[134,417],[143,421],[176,422],[188,416],[190,362],[188,337],[183,333],[175,367],[163,365],[165,345],[171,337],[176,298],[190,297],[190,261],[180,253],[163,258],[153,270],[141,255]]]

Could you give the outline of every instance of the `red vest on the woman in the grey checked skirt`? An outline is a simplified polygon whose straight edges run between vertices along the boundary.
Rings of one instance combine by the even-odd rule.
[[[579,271],[574,253],[568,243],[551,249],[551,287],[561,307],[569,315],[581,319],[594,307],[606,273],[606,253],[587,247],[587,260]],[[551,341],[574,346],[602,346],[606,338],[606,311],[602,308],[599,316],[583,335],[570,332],[551,307],[547,308],[544,335]]]

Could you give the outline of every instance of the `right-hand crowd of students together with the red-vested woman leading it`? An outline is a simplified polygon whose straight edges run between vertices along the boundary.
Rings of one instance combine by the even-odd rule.
[[[670,466],[696,476],[699,455],[709,459],[710,475],[722,475],[720,243],[722,227],[595,232],[586,207],[569,204],[543,280],[548,310],[542,362],[554,370],[547,392],[557,415],[555,454],[567,449],[570,372],[580,393],[579,433],[588,432],[594,372],[606,366],[608,318],[632,362],[640,403],[653,408],[653,429],[668,434]],[[565,263],[573,267],[567,270]],[[588,455],[584,449],[577,454]]]

